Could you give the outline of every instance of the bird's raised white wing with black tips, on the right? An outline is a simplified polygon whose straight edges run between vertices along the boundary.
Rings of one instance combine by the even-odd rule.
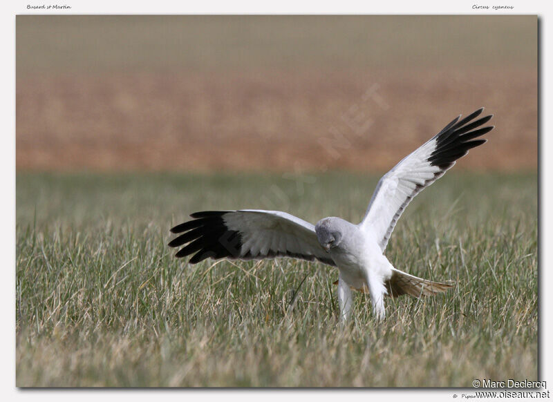
[[[475,138],[491,131],[494,126],[482,126],[491,115],[478,117],[484,108],[460,120],[453,119],[419,149],[404,157],[379,180],[366,215],[359,227],[376,236],[382,251],[386,249],[395,223],[409,202],[430,184],[451,169],[456,160],[467,155],[469,149],[484,144],[486,140]]]

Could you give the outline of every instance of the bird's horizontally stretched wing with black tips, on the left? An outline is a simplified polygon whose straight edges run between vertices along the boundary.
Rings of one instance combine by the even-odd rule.
[[[206,258],[294,257],[315,258],[335,266],[330,254],[319,245],[315,227],[289,213],[243,209],[196,212],[190,217],[194,219],[171,229],[182,234],[171,240],[169,246],[185,246],[175,256],[194,254],[191,264]]]

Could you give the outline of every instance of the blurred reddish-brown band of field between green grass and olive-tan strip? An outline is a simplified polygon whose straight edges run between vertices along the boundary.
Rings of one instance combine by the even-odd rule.
[[[461,169],[535,170],[535,73],[27,78],[17,86],[17,168],[383,171],[486,106],[496,124],[486,157],[471,154]]]

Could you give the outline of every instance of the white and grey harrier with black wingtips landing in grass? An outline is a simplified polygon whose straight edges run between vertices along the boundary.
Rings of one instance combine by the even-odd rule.
[[[192,213],[193,220],[171,229],[180,234],[169,246],[185,246],[176,257],[194,254],[191,264],[206,258],[292,257],[337,267],[339,308],[344,320],[350,315],[352,289],[370,294],[378,319],[386,315],[384,296],[420,297],[447,291],[452,285],[395,269],[384,250],[395,223],[415,195],[442,177],[469,149],[486,142],[476,138],[494,128],[481,127],[492,116],[474,120],[483,110],[453,119],[382,176],[359,224],[330,217],[313,226],[289,213],[259,209],[203,211]]]

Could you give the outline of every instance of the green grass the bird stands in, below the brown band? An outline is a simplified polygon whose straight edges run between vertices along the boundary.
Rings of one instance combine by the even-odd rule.
[[[202,209],[359,221],[376,176],[17,175],[17,386],[458,386],[537,379],[537,178],[448,173],[398,223],[398,269],[457,286],[357,296],[289,259],[189,266],[168,229]],[[302,281],[304,280],[302,284]],[[297,291],[296,296],[294,292]]]

